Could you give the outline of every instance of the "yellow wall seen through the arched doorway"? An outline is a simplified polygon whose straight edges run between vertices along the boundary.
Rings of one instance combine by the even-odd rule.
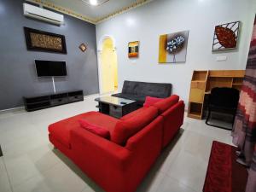
[[[118,87],[117,55],[111,38],[102,43],[101,53],[102,92],[110,92]]]

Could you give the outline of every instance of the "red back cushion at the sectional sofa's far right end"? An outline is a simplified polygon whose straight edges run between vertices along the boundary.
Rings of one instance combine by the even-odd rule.
[[[154,103],[154,107],[158,108],[159,113],[164,113],[168,108],[171,108],[175,103],[177,103],[179,100],[179,96],[177,95],[172,95],[160,102]]]

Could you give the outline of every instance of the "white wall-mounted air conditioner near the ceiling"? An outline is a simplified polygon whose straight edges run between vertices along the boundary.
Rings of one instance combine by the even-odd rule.
[[[39,8],[37,6],[33,6],[27,3],[23,3],[23,9],[24,15],[27,17],[32,17],[38,20],[44,20],[59,26],[64,24],[64,16],[61,14],[56,14],[55,12]]]

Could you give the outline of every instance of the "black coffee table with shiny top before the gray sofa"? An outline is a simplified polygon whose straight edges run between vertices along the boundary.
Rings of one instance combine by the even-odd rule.
[[[99,102],[99,112],[108,114],[114,118],[121,118],[125,114],[141,108],[136,101],[123,99],[116,96],[103,96],[95,99]]]

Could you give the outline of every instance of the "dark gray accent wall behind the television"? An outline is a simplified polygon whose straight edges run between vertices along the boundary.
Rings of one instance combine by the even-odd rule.
[[[23,106],[22,96],[53,91],[50,78],[38,79],[34,60],[67,61],[67,77],[55,78],[55,88],[99,92],[96,26],[64,15],[65,26],[54,26],[23,16],[23,0],[0,0],[0,110]],[[65,35],[67,55],[27,51],[23,26]],[[79,49],[88,44],[86,52]]]

